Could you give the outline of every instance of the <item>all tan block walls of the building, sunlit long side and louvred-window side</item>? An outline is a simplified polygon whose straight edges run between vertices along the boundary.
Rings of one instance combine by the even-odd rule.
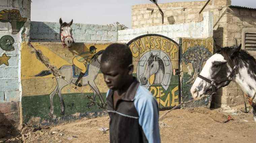
[[[164,26],[203,20],[199,11],[206,1],[175,2],[159,4],[164,12]],[[255,28],[256,11],[245,8],[232,8],[231,0],[211,0],[203,11],[213,12],[213,38],[219,46],[234,46],[235,39],[242,43],[244,28]],[[151,11],[147,8],[153,8]],[[132,28],[145,29],[162,25],[161,14],[154,4],[132,6]],[[163,27],[164,27],[163,26]],[[182,28],[180,28],[182,29]],[[248,51],[254,57],[256,52]],[[216,106],[239,105],[244,102],[243,92],[236,83],[231,82],[227,87],[219,90],[214,98]]]

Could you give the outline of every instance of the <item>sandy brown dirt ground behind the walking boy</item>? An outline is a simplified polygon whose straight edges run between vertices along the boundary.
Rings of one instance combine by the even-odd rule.
[[[252,113],[243,112],[243,106],[233,109],[232,113],[223,112],[222,108],[173,110],[159,121],[161,142],[256,142],[256,123]],[[160,111],[160,115],[164,112]],[[223,123],[228,115],[231,120]],[[46,129],[23,130],[22,136],[6,139],[6,142],[22,142],[23,139],[24,142],[40,143],[105,143],[109,142],[109,131],[99,129],[108,128],[108,122],[108,116],[84,118]]]

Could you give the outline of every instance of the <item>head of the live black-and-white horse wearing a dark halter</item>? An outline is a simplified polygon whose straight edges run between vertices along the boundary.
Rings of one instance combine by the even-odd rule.
[[[227,86],[235,73],[234,57],[241,49],[241,45],[236,48],[219,48],[216,54],[212,55],[206,62],[201,73],[193,83],[190,92],[193,98],[208,94],[212,89],[220,89]]]

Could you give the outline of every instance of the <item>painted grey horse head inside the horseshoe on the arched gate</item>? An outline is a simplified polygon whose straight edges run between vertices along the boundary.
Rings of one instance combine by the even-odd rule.
[[[160,72],[161,72],[161,74],[160,74]],[[144,73],[140,78],[140,83],[142,85],[146,85],[148,83],[148,79],[153,74],[155,74],[155,80],[154,80],[153,84],[160,84],[160,81],[162,81],[163,76],[164,76],[164,63],[158,57],[158,54],[153,55],[153,53],[151,53],[150,57],[147,61],[147,65],[144,70]]]

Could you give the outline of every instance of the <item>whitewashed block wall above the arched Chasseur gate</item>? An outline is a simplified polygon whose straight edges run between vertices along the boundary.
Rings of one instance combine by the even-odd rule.
[[[174,25],[152,26],[118,31],[118,42],[127,43],[131,39],[145,34],[160,34],[179,43],[180,37],[208,38],[213,36],[213,13],[204,12],[203,21]]]

